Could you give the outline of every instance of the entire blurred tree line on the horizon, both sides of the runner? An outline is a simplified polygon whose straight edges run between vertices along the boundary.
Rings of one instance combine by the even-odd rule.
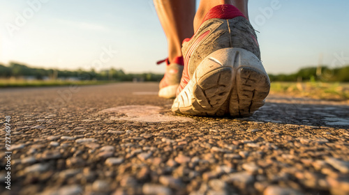
[[[126,74],[123,70],[101,70],[96,72],[91,69],[86,70],[57,70],[30,68],[27,65],[11,62],[10,65],[0,64],[0,78],[10,77],[34,77],[35,79],[79,79],[79,80],[115,80],[115,81],[160,81],[163,78],[161,74],[142,73]],[[349,82],[349,65],[339,68],[309,67],[302,68],[298,72],[286,75],[270,74],[271,81],[339,81]]]

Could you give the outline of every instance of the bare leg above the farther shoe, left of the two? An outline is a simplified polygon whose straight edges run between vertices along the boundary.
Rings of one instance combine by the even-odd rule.
[[[158,18],[168,40],[168,59],[181,54],[181,42],[193,36],[195,0],[154,0]]]

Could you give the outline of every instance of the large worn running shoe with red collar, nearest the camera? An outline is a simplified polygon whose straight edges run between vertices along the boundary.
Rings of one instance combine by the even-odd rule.
[[[182,45],[184,72],[172,111],[196,116],[251,116],[262,107],[270,81],[257,36],[232,5],[209,10]]]

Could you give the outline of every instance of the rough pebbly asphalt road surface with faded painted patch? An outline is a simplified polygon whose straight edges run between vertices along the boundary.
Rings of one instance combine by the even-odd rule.
[[[193,117],[157,90],[0,89],[0,194],[349,194],[348,102],[269,95],[250,118]]]

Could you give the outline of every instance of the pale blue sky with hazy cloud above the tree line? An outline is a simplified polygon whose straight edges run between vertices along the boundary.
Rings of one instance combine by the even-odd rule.
[[[167,57],[167,45],[151,0],[41,1],[0,0],[0,63],[164,72],[155,62]],[[344,0],[250,0],[267,72],[317,65],[320,55],[327,65],[342,65],[342,55],[349,63],[348,8]]]

